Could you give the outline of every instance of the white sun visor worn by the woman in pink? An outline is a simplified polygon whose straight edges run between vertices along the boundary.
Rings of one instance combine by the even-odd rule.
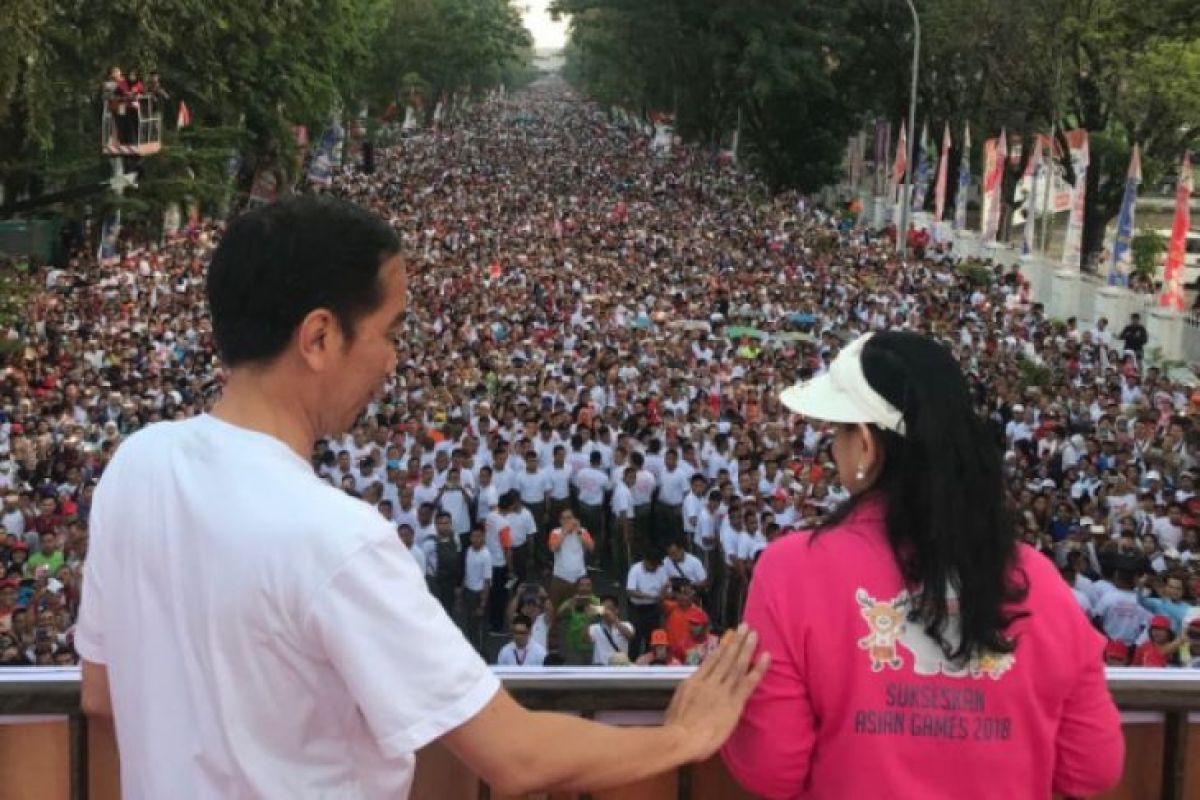
[[[785,389],[779,399],[791,411],[823,422],[876,425],[904,435],[904,414],[871,389],[863,374],[863,348],[871,333],[842,348],[829,372]]]

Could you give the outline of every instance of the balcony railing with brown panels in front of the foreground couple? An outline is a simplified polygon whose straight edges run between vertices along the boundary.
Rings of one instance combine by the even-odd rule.
[[[655,724],[689,668],[498,669],[527,708],[616,724]],[[1126,770],[1110,799],[1200,798],[1200,673],[1110,669],[1126,728]],[[5,800],[118,800],[116,747],[108,726],[79,711],[77,668],[0,670],[0,776]],[[502,800],[437,745],[418,758],[418,800]],[[740,800],[720,762],[685,766],[595,800]],[[551,795],[553,800],[574,800]]]

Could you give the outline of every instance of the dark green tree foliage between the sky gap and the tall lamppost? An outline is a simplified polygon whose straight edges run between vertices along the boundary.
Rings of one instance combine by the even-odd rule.
[[[857,125],[859,41],[834,0],[556,0],[571,14],[566,77],[604,104],[673,110],[685,138],[715,145],[742,119],[739,156],[773,188],[816,190]]]

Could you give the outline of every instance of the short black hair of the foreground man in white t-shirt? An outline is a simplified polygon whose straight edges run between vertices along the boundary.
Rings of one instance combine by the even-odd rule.
[[[302,197],[244,213],[212,254],[212,333],[229,366],[269,363],[296,326],[328,308],[348,341],[383,301],[379,266],[400,252],[391,227],[350,203]]]

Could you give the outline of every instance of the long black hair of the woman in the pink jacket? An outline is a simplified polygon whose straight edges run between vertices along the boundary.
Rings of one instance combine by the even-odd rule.
[[[817,535],[882,495],[892,552],[913,593],[910,621],[920,624],[944,652],[964,663],[1010,652],[1009,625],[1028,583],[1016,567],[1018,534],[1004,501],[1001,453],[974,411],[950,351],[932,338],[881,332],[863,348],[866,383],[904,415],[905,435],[871,428],[883,469],[870,491],[856,494]],[[947,639],[948,590],[958,599],[961,636]]]

